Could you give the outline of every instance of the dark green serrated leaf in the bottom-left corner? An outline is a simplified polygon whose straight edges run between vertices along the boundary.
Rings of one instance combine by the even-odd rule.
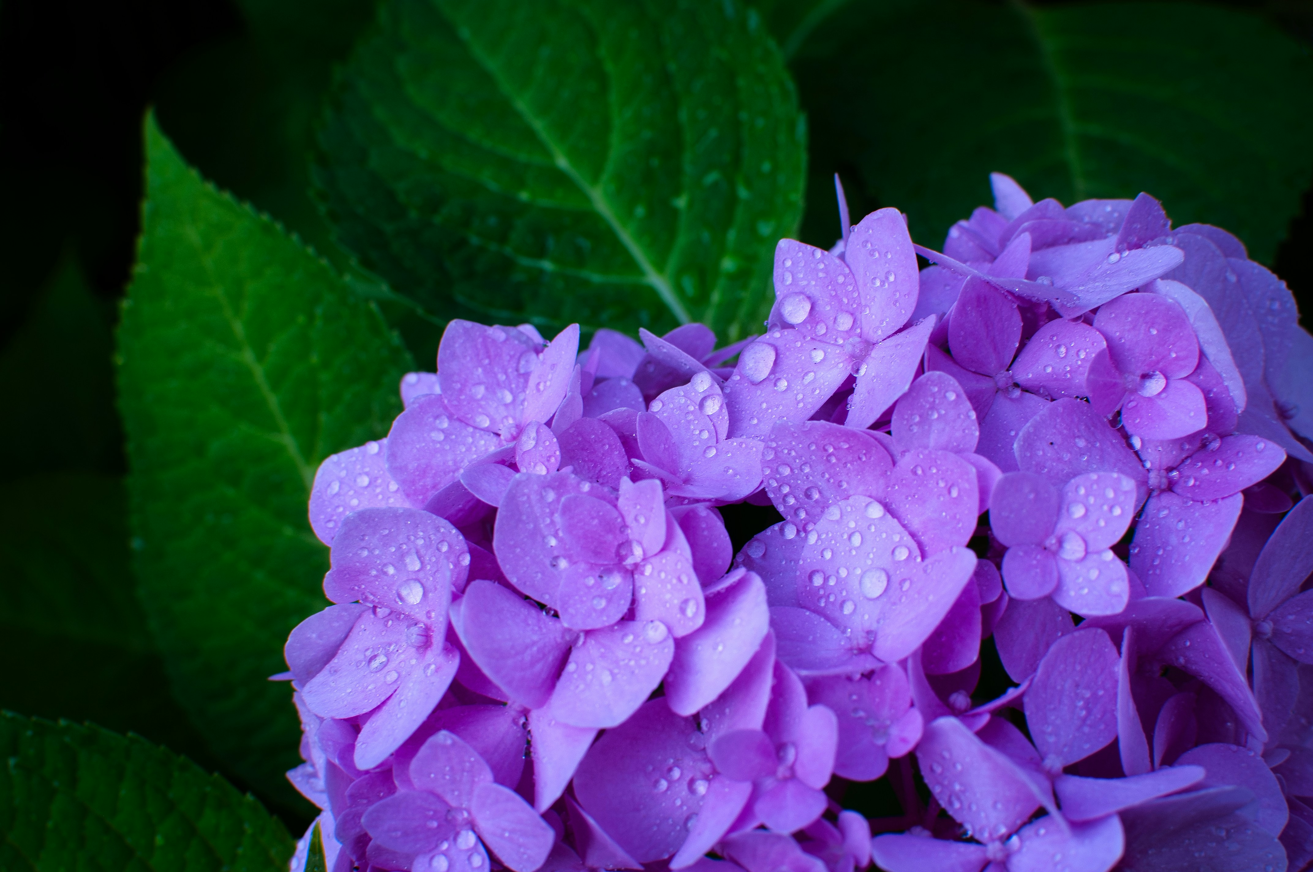
[[[0,868],[276,872],[294,842],[257,800],[138,735],[0,712]]]

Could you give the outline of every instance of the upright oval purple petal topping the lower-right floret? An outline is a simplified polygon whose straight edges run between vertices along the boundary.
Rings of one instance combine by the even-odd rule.
[[[1035,746],[1058,768],[1083,760],[1117,735],[1117,649],[1100,629],[1053,642],[1025,695]],[[1052,771],[1052,768],[1050,768]]]

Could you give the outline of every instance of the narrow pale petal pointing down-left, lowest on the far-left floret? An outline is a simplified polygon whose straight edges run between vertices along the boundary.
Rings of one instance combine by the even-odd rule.
[[[397,692],[369,716],[356,738],[357,770],[372,770],[399,749],[429,716],[456,678],[461,655],[453,646],[433,645],[423,654],[414,649],[408,654],[407,668],[398,670],[402,676]],[[383,672],[385,682],[389,675]]]

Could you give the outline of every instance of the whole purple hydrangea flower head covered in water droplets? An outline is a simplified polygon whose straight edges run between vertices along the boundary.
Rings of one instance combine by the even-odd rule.
[[[448,326],[310,500],[330,868],[1313,861],[1313,338],[1225,231],[993,184],[943,252],[840,190],[726,348]]]

